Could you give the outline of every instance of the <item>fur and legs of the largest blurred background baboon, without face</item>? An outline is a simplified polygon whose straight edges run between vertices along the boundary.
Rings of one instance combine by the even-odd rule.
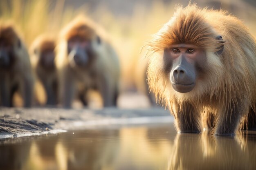
[[[67,41],[74,36],[92,42],[94,61],[90,62],[86,68],[70,66],[67,57]],[[99,39],[100,44],[97,44]],[[63,28],[57,44],[56,66],[60,99],[64,107],[70,107],[70,101],[72,102],[76,95],[81,98],[81,95],[83,96],[83,93],[89,89],[99,91],[103,106],[116,105],[119,93],[119,59],[106,33],[89,18],[79,15]]]

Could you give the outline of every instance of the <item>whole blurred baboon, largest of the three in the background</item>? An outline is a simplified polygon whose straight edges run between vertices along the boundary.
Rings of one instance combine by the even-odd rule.
[[[56,65],[60,100],[70,107],[77,94],[83,98],[88,90],[101,93],[103,106],[115,106],[119,84],[119,60],[94,22],[79,16],[61,31]]]

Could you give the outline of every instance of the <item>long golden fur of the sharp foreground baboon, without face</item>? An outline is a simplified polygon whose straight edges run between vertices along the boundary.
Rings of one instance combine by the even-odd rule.
[[[223,41],[216,40],[221,35]],[[189,93],[176,92],[163,69],[163,52],[172,44],[194,44],[207,51],[207,70],[203,79],[197,79],[195,88]],[[224,51],[217,55],[224,43]],[[256,44],[247,27],[227,11],[201,9],[196,4],[177,7],[171,20],[164,24],[148,43],[150,63],[148,83],[150,89],[168,106],[171,113],[184,113],[182,105],[191,104],[199,117],[195,124],[201,126],[200,118],[213,114],[216,124],[222,119],[224,110],[233,110],[239,103],[242,115],[246,116],[256,102]],[[186,107],[185,107],[186,108]],[[206,112],[206,114],[204,114]],[[190,119],[191,121],[191,119]],[[177,123],[177,122],[176,122]],[[218,127],[216,127],[218,129]],[[216,129],[213,129],[216,130]],[[178,129],[179,130],[179,129]]]

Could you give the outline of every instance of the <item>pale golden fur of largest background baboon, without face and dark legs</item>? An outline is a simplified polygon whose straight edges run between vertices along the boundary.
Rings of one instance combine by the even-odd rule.
[[[90,64],[90,71],[82,70],[81,68],[71,68],[69,60],[67,58],[67,41],[69,38],[78,35],[88,40],[92,40],[92,48],[96,51],[96,61]],[[101,44],[96,43],[97,36],[101,39]],[[60,38],[57,44],[57,56],[56,66],[58,69],[58,77],[60,82],[60,96],[63,99],[65,96],[65,79],[68,77],[74,78],[74,89],[73,91],[79,91],[81,89],[92,88],[93,86],[103,86],[99,83],[103,79],[106,79],[109,89],[105,89],[110,93],[109,101],[112,101],[115,93],[118,93],[119,88],[119,59],[107,40],[104,32],[95,24],[92,20],[85,18],[84,16],[78,16],[72,20],[60,33]],[[95,74],[91,77],[91,74]],[[78,78],[79,77],[79,78]],[[101,78],[100,78],[101,77]],[[73,80],[70,80],[73,81]],[[105,87],[98,89],[104,91]],[[72,92],[71,95],[74,95]],[[65,97],[64,97],[65,98]],[[106,102],[106,99],[103,99]]]

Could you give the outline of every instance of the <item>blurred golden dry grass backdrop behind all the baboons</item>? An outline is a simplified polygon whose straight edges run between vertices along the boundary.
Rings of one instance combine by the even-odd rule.
[[[141,75],[137,73],[137,65],[142,65],[139,66],[141,68],[146,63],[141,62],[141,56],[144,54],[143,52],[140,54],[141,46],[171,18],[175,6],[175,2],[163,4],[155,1],[150,9],[146,9],[143,5],[135,6],[133,15],[125,17],[113,15],[101,5],[93,13],[88,13],[86,4],[79,9],[74,9],[64,7],[64,0],[57,0],[56,4],[50,0],[26,0],[25,2],[22,0],[0,1],[0,19],[13,20],[27,46],[41,33],[50,32],[58,35],[59,29],[79,13],[89,15],[101,24],[111,35],[112,44],[120,56],[123,90],[133,86],[135,77]],[[242,1],[238,2],[242,3]],[[228,3],[230,2],[225,2],[225,4]],[[249,5],[245,6],[245,3],[239,5],[242,10],[234,14],[244,19],[252,33],[256,35],[255,9]],[[223,7],[226,8],[225,5]]]

